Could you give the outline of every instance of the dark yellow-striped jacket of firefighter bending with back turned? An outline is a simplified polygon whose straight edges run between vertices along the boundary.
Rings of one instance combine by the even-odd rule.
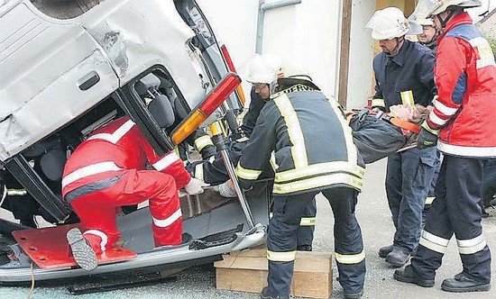
[[[240,185],[249,189],[269,162],[274,194],[362,189],[363,162],[351,128],[335,100],[317,91],[282,94],[264,105],[236,168]]]

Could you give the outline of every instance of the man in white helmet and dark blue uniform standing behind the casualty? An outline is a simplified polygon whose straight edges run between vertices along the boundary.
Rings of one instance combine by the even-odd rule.
[[[435,56],[417,42],[407,41],[409,22],[396,7],[377,11],[367,28],[382,52],[373,59],[376,86],[372,107],[389,112],[395,104],[427,106],[436,93]],[[396,229],[393,244],[379,256],[401,267],[418,247],[422,210],[434,174],[436,149],[409,149],[388,157],[386,195]]]

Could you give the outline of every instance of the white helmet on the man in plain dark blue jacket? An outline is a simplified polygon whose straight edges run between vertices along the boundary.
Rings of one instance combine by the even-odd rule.
[[[409,32],[409,21],[398,7],[387,7],[375,12],[365,28],[372,29],[372,39],[392,40]]]

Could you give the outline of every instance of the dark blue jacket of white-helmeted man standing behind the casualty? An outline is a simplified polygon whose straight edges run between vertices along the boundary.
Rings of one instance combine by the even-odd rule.
[[[388,57],[383,52],[373,59],[374,99],[384,99],[385,108],[402,104],[401,93],[413,95],[415,104],[427,106],[436,95],[434,83],[435,55],[418,42],[405,40],[400,52]]]

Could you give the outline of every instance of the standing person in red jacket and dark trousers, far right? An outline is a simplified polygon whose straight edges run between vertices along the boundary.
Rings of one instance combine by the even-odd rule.
[[[402,282],[433,286],[436,270],[455,235],[461,273],[446,278],[447,292],[491,289],[491,250],[482,231],[483,163],[496,158],[496,63],[489,42],[464,9],[479,1],[445,0],[434,6],[437,39],[436,85],[439,96],[418,134],[417,146],[437,146],[444,159],[436,200],[427,215],[411,264],[396,270]]]

